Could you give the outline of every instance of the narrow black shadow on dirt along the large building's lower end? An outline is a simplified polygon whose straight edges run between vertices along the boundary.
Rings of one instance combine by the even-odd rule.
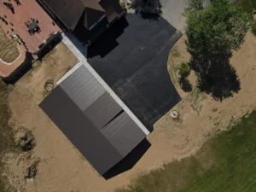
[[[143,141],[139,143],[137,147],[131,151],[130,154],[128,154],[123,160],[119,161],[119,163],[108,170],[108,172],[104,173],[102,177],[108,180],[130,170],[137,164],[137,161],[143,157],[150,146],[151,144],[148,142],[148,140],[146,138],[143,139]]]

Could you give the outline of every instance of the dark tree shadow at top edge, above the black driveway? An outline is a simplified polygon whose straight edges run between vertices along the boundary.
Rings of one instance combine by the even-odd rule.
[[[159,0],[135,0],[131,7],[140,14],[144,20],[157,21],[162,14],[162,5]]]

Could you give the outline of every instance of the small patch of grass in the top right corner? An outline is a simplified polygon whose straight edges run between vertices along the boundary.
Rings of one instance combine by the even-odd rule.
[[[241,5],[242,9],[247,12],[251,20],[253,32],[256,35],[256,20],[253,20],[253,11],[256,11],[256,0],[237,0],[235,5]]]

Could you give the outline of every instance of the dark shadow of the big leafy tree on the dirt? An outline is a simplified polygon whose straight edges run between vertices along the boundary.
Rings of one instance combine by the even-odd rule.
[[[222,102],[241,89],[236,69],[230,66],[231,52],[211,56],[190,54],[189,65],[199,77],[198,88],[201,91]]]

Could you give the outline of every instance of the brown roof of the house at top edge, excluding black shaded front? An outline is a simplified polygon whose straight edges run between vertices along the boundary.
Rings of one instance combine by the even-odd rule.
[[[102,15],[107,15],[108,21],[113,20],[121,8],[115,0],[39,0],[50,9],[69,28],[74,30],[81,17],[84,26],[89,29]],[[104,6],[104,8],[102,7]],[[113,9],[114,8],[114,9]],[[108,17],[109,15],[109,17]]]

